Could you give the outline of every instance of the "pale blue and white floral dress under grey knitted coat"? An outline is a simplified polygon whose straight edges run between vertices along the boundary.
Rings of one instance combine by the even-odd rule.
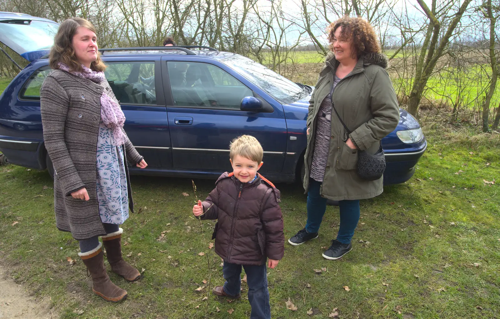
[[[121,145],[113,145],[112,130],[101,121],[97,138],[97,201],[103,223],[123,224],[128,218],[128,193]]]

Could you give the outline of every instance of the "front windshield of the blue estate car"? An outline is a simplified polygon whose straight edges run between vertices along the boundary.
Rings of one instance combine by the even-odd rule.
[[[295,102],[302,97],[304,90],[300,86],[247,57],[235,55],[222,62],[241,73],[281,104]]]

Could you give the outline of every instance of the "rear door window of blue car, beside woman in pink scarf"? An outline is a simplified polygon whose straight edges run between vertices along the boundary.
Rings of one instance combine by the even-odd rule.
[[[156,104],[154,62],[106,62],[107,82],[120,104]]]

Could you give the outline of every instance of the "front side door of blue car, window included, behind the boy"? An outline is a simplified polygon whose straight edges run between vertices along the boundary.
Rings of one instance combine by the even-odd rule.
[[[271,112],[241,111],[241,99],[255,93],[236,74],[230,74],[234,71],[224,70],[221,63],[219,67],[207,62],[163,60],[165,92],[170,91],[165,100],[175,168],[231,171],[229,143],[248,134],[257,138],[264,150],[261,172],[281,173],[287,137],[280,104],[274,102],[279,106],[274,105]]]

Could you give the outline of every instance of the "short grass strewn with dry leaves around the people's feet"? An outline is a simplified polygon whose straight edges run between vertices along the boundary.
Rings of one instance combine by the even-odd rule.
[[[487,182],[500,180],[500,153],[440,143],[440,131],[432,134],[413,178],[361,201],[353,250],[342,259],[321,257],[337,231],[337,207],[327,208],[317,240],[285,244],[283,260],[268,270],[273,318],[327,318],[334,308],[338,318],[352,319],[498,318],[500,190]],[[213,181],[194,182],[199,197],[213,187]],[[132,177],[136,210],[123,225],[123,253],[144,278],[130,284],[109,274],[128,291],[120,304],[91,293],[78,243],[55,228],[51,187],[46,172],[0,167],[0,261],[17,283],[38,299],[49,298],[61,318],[76,318],[75,309],[88,319],[204,318],[208,275],[198,253],[209,256],[211,286],[223,279],[220,258],[192,218],[190,179]],[[305,196],[296,185],[278,188],[289,238],[305,223]],[[203,222],[206,240],[213,226]],[[70,266],[67,257],[76,263]],[[296,311],[286,309],[288,298]],[[208,318],[249,313],[244,298],[208,297]]]

